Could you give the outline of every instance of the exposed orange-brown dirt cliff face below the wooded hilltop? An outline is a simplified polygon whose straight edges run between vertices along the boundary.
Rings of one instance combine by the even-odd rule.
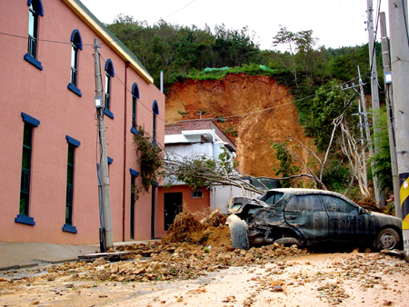
[[[237,145],[240,169],[254,176],[274,177],[273,167],[278,163],[270,141],[284,142],[291,136],[313,144],[298,123],[293,101],[289,89],[269,76],[227,74],[221,80],[188,79],[173,84],[166,94],[165,120],[220,118],[217,124]],[[301,148],[297,153],[308,160]]]

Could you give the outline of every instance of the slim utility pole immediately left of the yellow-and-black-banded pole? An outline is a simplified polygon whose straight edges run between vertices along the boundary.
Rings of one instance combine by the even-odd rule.
[[[380,15],[381,21],[381,44],[382,63],[384,66],[384,89],[386,94],[386,113],[388,117],[389,151],[391,153],[392,179],[394,182],[394,215],[402,219],[401,203],[399,197],[399,184],[397,161],[396,161],[396,141],[394,138],[394,97],[392,80],[388,80],[387,74],[391,73],[391,58],[389,54],[389,40],[386,31],[386,18],[384,12]]]

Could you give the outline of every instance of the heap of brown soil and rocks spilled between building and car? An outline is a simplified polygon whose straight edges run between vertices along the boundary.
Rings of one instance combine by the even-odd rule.
[[[94,262],[65,262],[46,268],[46,273],[30,277],[54,281],[68,276],[69,281],[149,282],[190,279],[226,269],[230,266],[265,264],[274,259],[304,255],[296,245],[278,244],[251,248],[249,251],[231,246],[230,232],[224,214],[218,210],[200,222],[192,213],[179,213],[162,242],[134,243],[116,248],[128,252],[127,261],[109,262],[103,257]],[[38,271],[34,271],[38,273]]]

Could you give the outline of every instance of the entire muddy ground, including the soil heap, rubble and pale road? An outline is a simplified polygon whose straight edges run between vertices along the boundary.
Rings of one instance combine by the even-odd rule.
[[[120,262],[0,272],[0,306],[409,306],[409,263],[399,257],[276,244],[243,251],[218,216],[182,221],[162,243],[123,246],[129,259]]]

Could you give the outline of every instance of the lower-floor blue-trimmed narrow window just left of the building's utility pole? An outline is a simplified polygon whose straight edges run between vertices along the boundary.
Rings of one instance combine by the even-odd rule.
[[[75,148],[81,143],[68,135],[66,135],[65,138],[68,143],[68,155],[66,168],[65,225],[63,231],[76,233],[76,229],[73,226]]]

